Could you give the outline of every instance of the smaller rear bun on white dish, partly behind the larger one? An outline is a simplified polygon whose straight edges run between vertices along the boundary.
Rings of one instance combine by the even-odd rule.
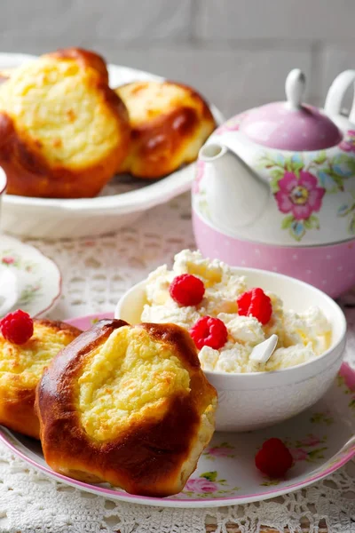
[[[161,178],[197,158],[216,128],[208,105],[190,87],[171,82],[134,82],[118,87],[130,115],[130,155],[119,172]]]

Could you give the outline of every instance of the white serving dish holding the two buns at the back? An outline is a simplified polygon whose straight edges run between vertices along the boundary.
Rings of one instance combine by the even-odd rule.
[[[0,53],[0,70],[18,67],[36,56],[19,53]],[[108,65],[112,87],[134,80],[162,80],[143,70]],[[225,122],[217,107],[210,105],[217,123]],[[4,232],[12,235],[41,238],[75,238],[103,235],[129,226],[146,210],[168,202],[191,187],[195,163],[154,182],[114,178],[96,198],[77,200],[29,198],[5,195],[2,215]]]

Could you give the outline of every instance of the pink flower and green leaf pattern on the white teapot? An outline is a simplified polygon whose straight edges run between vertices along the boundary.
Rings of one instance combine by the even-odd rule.
[[[308,163],[302,152],[290,156],[264,152],[257,161],[269,176],[279,211],[286,215],[281,227],[297,242],[307,230],[319,229],[317,213],[324,195],[343,191],[345,180],[355,174],[355,131],[348,131],[339,147],[344,153],[329,158],[322,150]],[[350,196],[349,203],[339,206],[337,216],[349,218],[348,232],[355,235],[355,191]]]

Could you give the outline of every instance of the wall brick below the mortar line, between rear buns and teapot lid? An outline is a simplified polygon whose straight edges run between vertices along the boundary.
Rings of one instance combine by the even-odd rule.
[[[109,52],[109,51],[107,51]],[[122,49],[114,56],[122,65],[145,68],[170,79],[192,84],[214,101],[226,115],[241,111],[257,102],[284,99],[285,76],[289,65],[303,68],[310,75],[310,48],[288,51],[224,50],[185,46],[162,50],[155,45],[148,50]],[[270,76],[272,63],[277,68]]]

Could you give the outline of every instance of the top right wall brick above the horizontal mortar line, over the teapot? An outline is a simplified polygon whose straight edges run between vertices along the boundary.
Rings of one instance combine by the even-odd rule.
[[[201,0],[204,39],[305,39],[354,36],[353,0]]]

